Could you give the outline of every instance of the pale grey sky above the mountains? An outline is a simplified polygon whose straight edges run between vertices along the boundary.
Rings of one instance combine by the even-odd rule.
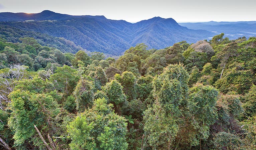
[[[139,22],[153,17],[177,22],[256,21],[255,0],[0,0],[0,12],[104,15]]]

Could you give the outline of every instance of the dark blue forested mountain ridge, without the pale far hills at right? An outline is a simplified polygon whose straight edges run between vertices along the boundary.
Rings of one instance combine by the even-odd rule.
[[[8,18],[6,15],[11,17]],[[195,43],[216,35],[206,30],[191,30],[180,26],[172,18],[161,17],[133,24],[124,20],[106,19],[104,16],[71,16],[46,10],[31,16],[25,13],[0,13],[0,18],[2,25],[63,37],[88,51],[111,55],[121,55],[126,49],[138,43],[145,43],[149,49],[162,49],[180,41]]]

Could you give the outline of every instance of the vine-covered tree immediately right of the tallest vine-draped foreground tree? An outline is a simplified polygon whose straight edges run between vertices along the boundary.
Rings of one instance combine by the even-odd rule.
[[[190,146],[197,146],[209,137],[210,125],[217,119],[216,102],[218,91],[212,86],[196,84],[189,89],[185,129],[181,128],[179,141]],[[185,132],[184,132],[185,131]],[[187,135],[186,135],[187,133]],[[183,137],[184,136],[184,137]]]

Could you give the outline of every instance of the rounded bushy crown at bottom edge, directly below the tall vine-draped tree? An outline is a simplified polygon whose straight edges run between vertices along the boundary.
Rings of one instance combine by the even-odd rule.
[[[144,112],[143,120],[146,136],[145,141],[142,141],[142,149],[148,145],[152,149],[174,149],[172,143],[178,132],[178,124],[170,113],[166,113],[159,105],[153,105],[153,108],[150,107]]]

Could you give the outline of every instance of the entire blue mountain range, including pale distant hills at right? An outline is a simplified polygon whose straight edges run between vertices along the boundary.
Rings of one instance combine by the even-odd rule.
[[[48,46],[62,52],[86,49],[115,56],[138,43],[145,43],[148,49],[163,49],[180,41],[210,40],[220,33],[230,39],[256,36],[256,21],[177,23],[172,18],[154,17],[130,23],[104,16],[72,16],[49,10],[34,14],[0,13],[0,27],[0,37],[9,37],[10,42],[30,36],[44,45],[50,42]],[[19,34],[12,37],[16,31]],[[64,46],[65,43],[69,44]]]

